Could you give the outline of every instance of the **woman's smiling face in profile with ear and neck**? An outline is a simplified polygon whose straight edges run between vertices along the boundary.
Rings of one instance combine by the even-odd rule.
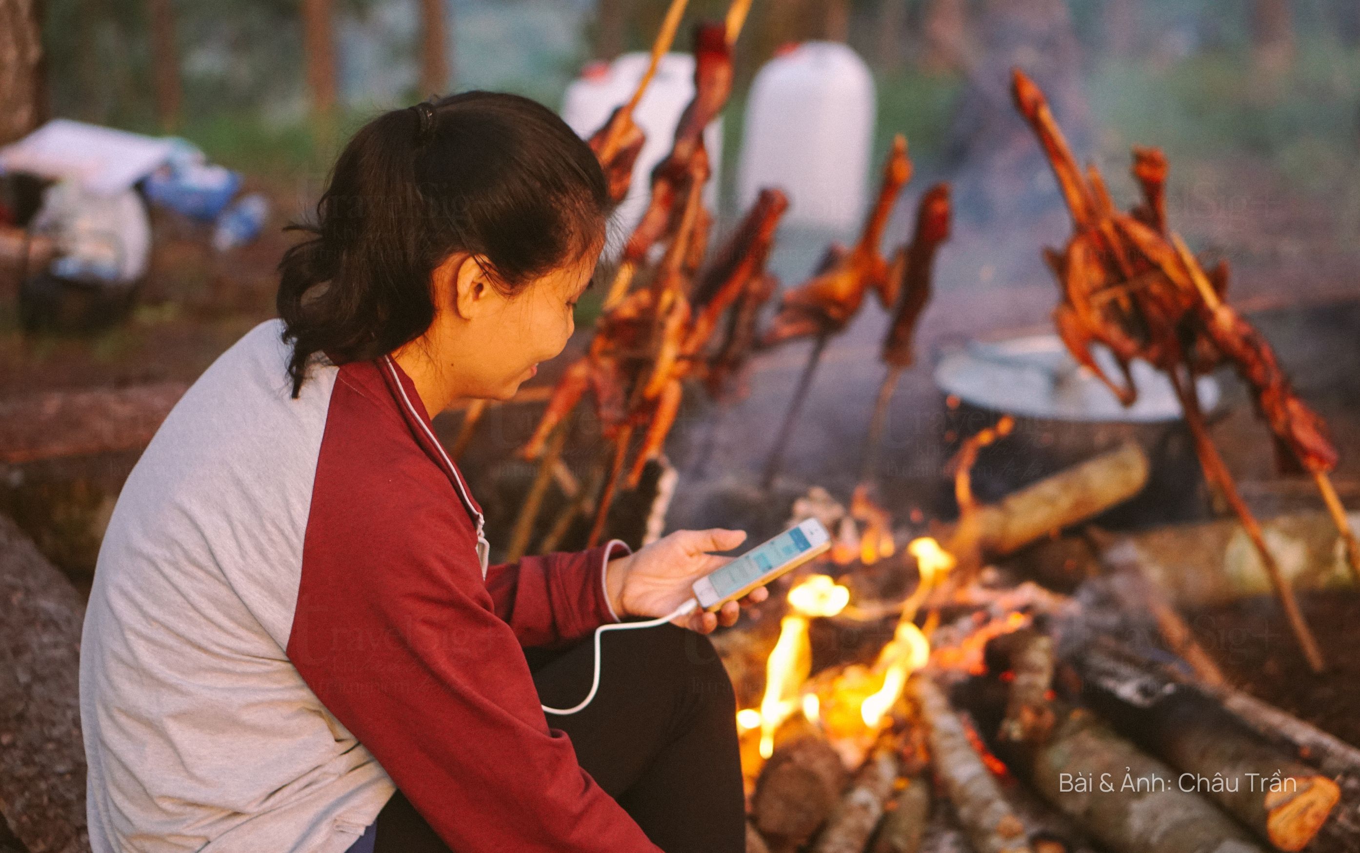
[[[423,348],[438,363],[450,401],[509,400],[540,362],[562,352],[600,249],[593,246],[509,297],[471,256],[450,257],[435,271],[437,316]]]

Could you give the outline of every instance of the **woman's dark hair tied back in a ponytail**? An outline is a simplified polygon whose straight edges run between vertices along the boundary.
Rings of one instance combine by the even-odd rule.
[[[292,396],[307,363],[392,352],[430,328],[430,275],[452,253],[484,256],[503,292],[579,258],[611,201],[590,147],[552,110],[469,91],[384,113],[340,152],[311,237],[279,263]]]

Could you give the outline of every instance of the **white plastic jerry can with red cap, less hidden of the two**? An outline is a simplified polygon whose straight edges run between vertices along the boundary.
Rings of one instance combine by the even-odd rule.
[[[804,42],[766,63],[747,101],[740,208],[778,186],[786,223],[854,230],[868,203],[874,114],[873,75],[840,42]]]

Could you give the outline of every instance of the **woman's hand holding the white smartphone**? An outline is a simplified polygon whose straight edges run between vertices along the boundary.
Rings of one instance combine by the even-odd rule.
[[[732,562],[710,551],[729,551],[745,541],[744,531],[676,531],[636,554],[609,561],[605,586],[609,603],[620,618],[665,616],[694,597],[692,585],[703,575]],[[760,586],[743,604],[764,601],[770,592]],[[707,634],[718,624],[733,624],[741,615],[736,601],[728,601],[717,614],[696,609],[676,619],[680,627]]]

